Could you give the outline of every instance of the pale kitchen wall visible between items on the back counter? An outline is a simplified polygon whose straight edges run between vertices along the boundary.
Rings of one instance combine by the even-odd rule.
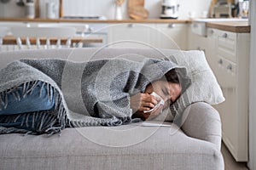
[[[47,1],[49,0],[39,0],[42,17],[45,17],[44,3]],[[15,2],[16,0],[10,0],[9,3],[0,3],[0,17],[23,17],[24,7],[18,7]],[[125,0],[122,6],[124,18],[128,18],[126,10],[127,2],[128,0]],[[179,19],[187,19],[189,11],[195,11],[195,15],[200,17],[202,11],[208,10],[211,0],[177,0],[177,3],[180,4]],[[161,13],[161,0],[145,0],[145,8],[149,11],[148,18],[159,18]],[[114,0],[63,0],[65,15],[103,15],[108,19],[113,19],[114,9]]]

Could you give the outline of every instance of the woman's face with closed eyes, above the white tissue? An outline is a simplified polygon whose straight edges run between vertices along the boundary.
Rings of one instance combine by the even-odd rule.
[[[163,108],[172,104],[182,92],[182,87],[178,83],[166,82],[166,81],[156,81],[149,84],[145,90],[145,93],[151,94],[152,92],[160,95],[165,101]]]

